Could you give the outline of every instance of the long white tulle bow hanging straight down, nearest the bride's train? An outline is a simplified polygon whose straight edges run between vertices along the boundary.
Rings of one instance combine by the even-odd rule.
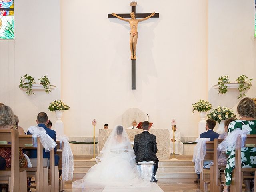
[[[62,179],[64,181],[73,180],[74,157],[68,137],[65,135],[58,136],[58,140],[60,140],[60,144],[64,143],[64,147],[62,147]]]

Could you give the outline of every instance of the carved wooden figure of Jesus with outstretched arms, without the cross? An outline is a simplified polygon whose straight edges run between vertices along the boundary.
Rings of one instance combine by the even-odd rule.
[[[154,14],[155,14],[155,12],[152,13],[150,16],[147,16],[145,18],[136,19],[135,18],[135,13],[131,12],[130,13],[131,19],[124,19],[124,18],[118,16],[117,14],[112,13],[112,15],[117,17],[118,19],[124,20],[124,21],[127,21],[127,22],[130,23],[130,28],[131,28],[131,31],[130,31],[130,50],[131,50],[131,54],[132,54],[131,60],[136,60],[136,44],[137,44],[137,39],[138,39],[138,31],[137,31],[138,22],[147,20],[148,18],[152,17]]]

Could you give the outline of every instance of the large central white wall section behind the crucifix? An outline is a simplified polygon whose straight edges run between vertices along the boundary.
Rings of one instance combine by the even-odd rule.
[[[159,12],[138,24],[136,90],[131,90],[130,27],[107,14],[130,12],[130,1],[61,1],[61,98],[65,134],[92,136],[122,123],[129,108],[148,113],[152,128],[197,136],[192,104],[207,99],[207,11],[204,0],[137,1],[136,12]]]

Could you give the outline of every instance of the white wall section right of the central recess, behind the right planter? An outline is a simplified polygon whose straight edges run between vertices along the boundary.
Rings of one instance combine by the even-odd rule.
[[[238,91],[218,94],[212,88],[221,75],[229,75],[235,82],[245,74],[252,78],[246,96],[256,97],[254,0],[209,0],[208,96],[214,106],[232,107],[241,100]]]

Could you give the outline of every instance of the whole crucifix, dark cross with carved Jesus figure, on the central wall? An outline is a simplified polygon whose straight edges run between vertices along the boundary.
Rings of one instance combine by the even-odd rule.
[[[118,18],[130,23],[130,50],[131,50],[131,61],[132,61],[132,89],[136,89],[136,44],[138,38],[138,22],[147,20],[150,17],[159,18],[159,13],[137,13],[136,14],[136,5],[137,3],[132,1],[130,6],[132,7],[131,13],[109,13],[108,18]],[[129,19],[125,19],[129,18]],[[136,19],[142,18],[142,19]]]

